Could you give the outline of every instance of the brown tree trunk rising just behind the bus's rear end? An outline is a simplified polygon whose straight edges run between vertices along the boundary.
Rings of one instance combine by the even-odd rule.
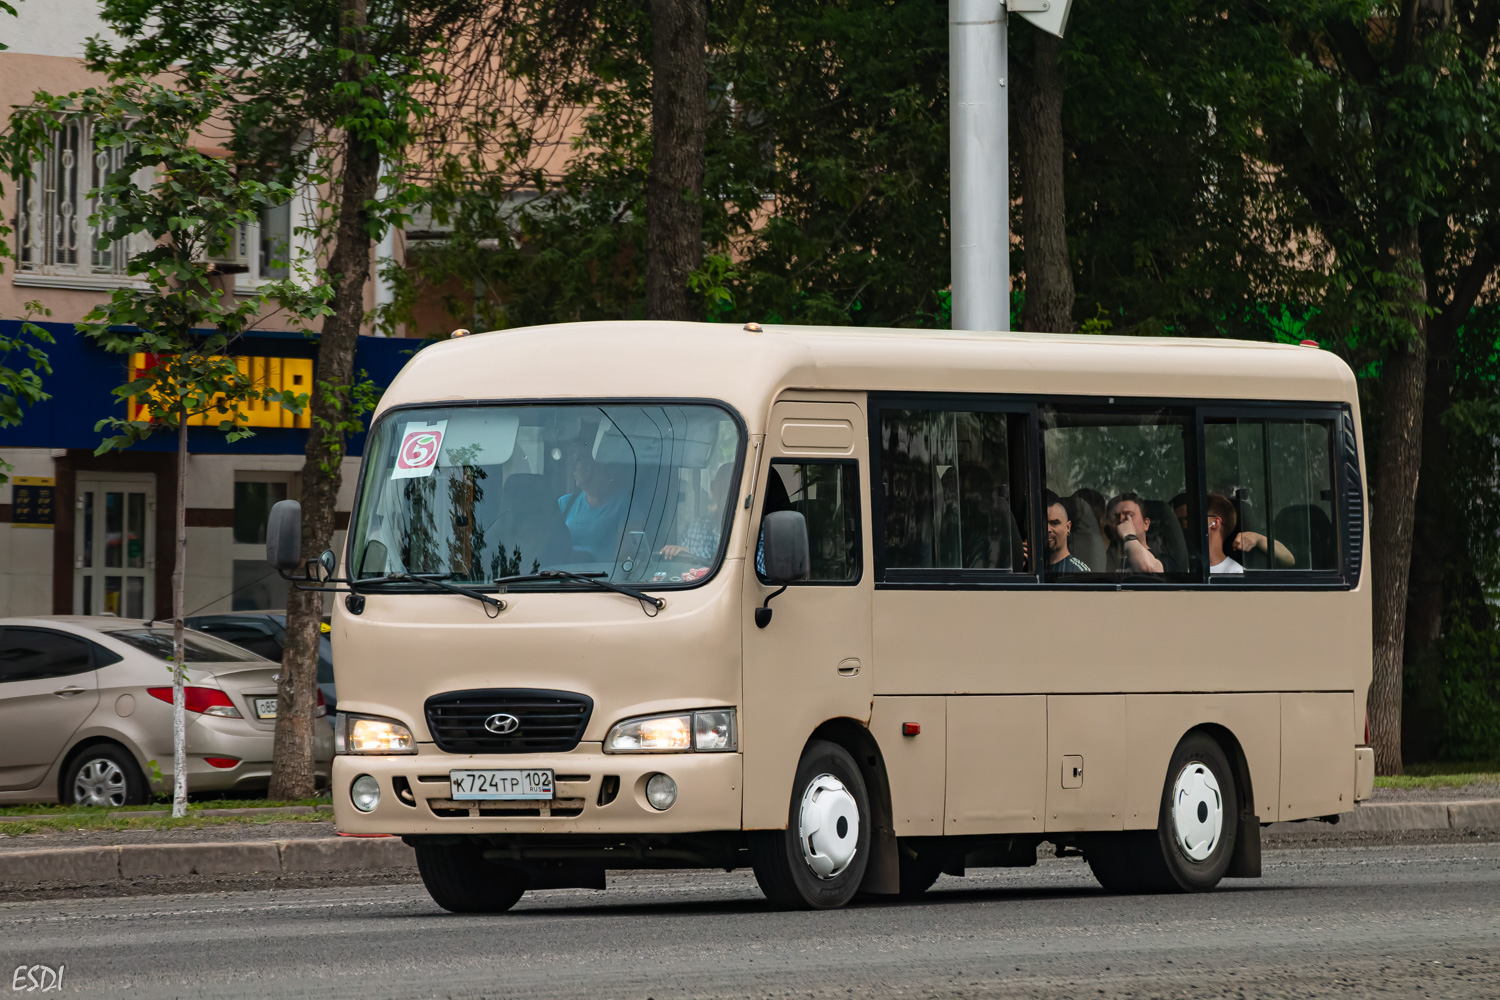
[[[1401,774],[1401,661],[1406,640],[1412,526],[1422,469],[1422,396],[1426,381],[1426,298],[1416,229],[1394,247],[1398,315],[1412,327],[1410,343],[1392,349],[1380,375],[1380,456],[1370,517],[1374,589],[1374,679],[1370,687],[1370,739],[1377,774]]]

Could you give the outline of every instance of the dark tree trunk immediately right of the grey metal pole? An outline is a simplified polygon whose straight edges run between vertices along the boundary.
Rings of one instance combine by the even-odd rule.
[[[1030,31],[1030,66],[1012,72],[1016,139],[1020,153],[1022,247],[1026,300],[1022,328],[1072,333],[1072,261],[1068,256],[1062,184],[1062,39]]]

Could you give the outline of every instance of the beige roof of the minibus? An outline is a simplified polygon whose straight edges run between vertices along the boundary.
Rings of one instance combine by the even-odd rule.
[[[750,325],[750,324],[747,324]],[[1328,351],[1251,340],[606,321],[420,351],[381,409],[540,399],[718,399],[754,429],[783,390],[1356,400]]]

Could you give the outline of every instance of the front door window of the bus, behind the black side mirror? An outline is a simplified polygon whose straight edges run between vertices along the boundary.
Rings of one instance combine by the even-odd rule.
[[[762,516],[795,510],[807,519],[810,573],[802,583],[860,580],[860,475],[854,462],[772,462]],[[756,552],[756,573],[765,564]]]

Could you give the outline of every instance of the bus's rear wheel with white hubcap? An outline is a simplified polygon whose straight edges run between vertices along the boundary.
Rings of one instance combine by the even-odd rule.
[[[1196,789],[1182,811],[1174,810],[1173,801],[1179,777]],[[1194,798],[1200,799],[1196,813]],[[1215,810],[1221,820],[1218,831],[1204,838],[1204,829],[1192,826],[1191,816],[1202,820]],[[1190,823],[1179,829],[1176,817],[1185,813]],[[1208,892],[1228,871],[1238,832],[1239,789],[1228,759],[1206,733],[1188,733],[1167,768],[1156,829],[1096,835],[1084,846],[1084,858],[1110,892]]]

